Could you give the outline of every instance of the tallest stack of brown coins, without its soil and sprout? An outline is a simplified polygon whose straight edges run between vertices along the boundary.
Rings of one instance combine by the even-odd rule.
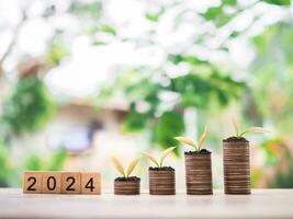
[[[249,142],[224,141],[225,194],[250,194]]]

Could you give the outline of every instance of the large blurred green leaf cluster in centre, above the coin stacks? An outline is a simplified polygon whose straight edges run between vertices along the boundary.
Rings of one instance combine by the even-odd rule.
[[[172,138],[184,134],[185,108],[206,110],[211,103],[214,106],[214,102],[225,107],[232,100],[240,97],[246,88],[245,83],[222,74],[209,61],[181,55],[170,55],[169,61],[174,65],[187,61],[193,70],[170,78],[162,70],[137,68],[119,74],[114,83],[106,85],[100,95],[104,100],[105,95],[124,93],[129,104],[124,130],[147,131],[150,134],[149,140],[164,149],[178,146]],[[161,95],[168,95],[171,100],[166,102]]]

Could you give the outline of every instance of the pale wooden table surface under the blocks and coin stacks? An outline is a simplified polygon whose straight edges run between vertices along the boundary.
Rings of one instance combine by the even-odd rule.
[[[293,218],[293,189],[255,189],[252,195],[114,196],[22,194],[0,188],[0,218]]]

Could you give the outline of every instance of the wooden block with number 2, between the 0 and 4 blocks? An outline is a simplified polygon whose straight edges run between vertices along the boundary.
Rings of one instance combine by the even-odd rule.
[[[80,172],[61,172],[61,193],[80,194]]]

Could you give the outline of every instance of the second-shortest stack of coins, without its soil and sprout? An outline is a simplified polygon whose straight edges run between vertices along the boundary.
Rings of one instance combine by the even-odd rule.
[[[149,170],[150,195],[174,195],[174,170]]]

